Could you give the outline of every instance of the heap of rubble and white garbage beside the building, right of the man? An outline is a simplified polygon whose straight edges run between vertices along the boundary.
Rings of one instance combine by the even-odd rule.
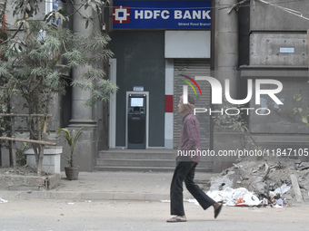
[[[309,201],[309,162],[289,158],[237,159],[211,178],[207,194],[227,206],[289,207]]]

